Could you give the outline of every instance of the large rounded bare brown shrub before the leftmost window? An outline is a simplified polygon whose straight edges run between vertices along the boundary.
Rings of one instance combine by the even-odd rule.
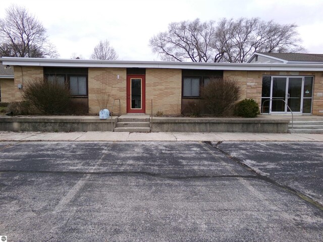
[[[70,102],[68,84],[59,80],[33,79],[24,85],[22,97],[40,113],[55,114],[64,112]]]

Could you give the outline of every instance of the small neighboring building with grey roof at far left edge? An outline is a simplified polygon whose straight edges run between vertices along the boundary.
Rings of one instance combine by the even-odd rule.
[[[14,69],[0,62],[0,102],[13,102]]]

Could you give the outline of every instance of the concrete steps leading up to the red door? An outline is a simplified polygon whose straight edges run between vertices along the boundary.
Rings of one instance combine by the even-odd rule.
[[[149,115],[121,115],[115,132],[150,132]]]

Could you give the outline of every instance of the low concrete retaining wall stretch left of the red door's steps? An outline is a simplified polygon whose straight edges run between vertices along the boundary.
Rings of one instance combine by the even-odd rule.
[[[117,117],[112,118],[116,126]],[[111,131],[111,117],[0,117],[0,131],[83,132]]]

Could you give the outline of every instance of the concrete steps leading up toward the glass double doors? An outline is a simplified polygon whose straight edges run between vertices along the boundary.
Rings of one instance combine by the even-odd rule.
[[[291,134],[320,134],[323,133],[323,121],[302,120],[294,121],[288,126],[288,133]]]

